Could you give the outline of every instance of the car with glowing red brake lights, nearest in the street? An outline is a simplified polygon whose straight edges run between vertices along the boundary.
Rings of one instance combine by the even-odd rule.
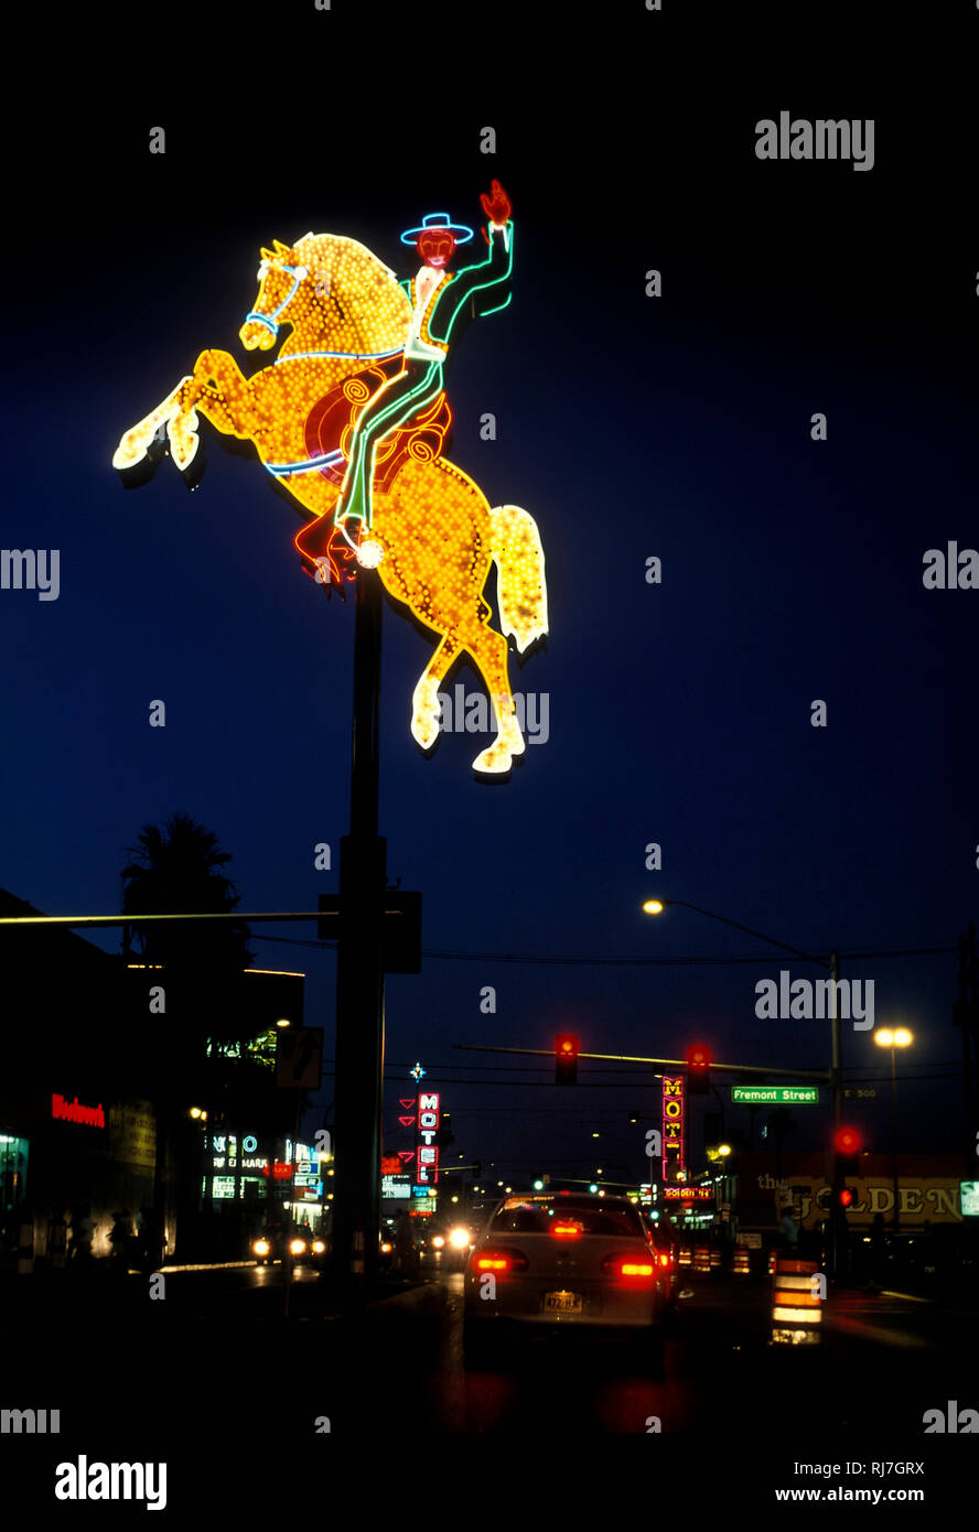
[[[466,1347],[521,1327],[630,1333],[663,1365],[670,1252],[625,1196],[507,1196],[466,1265]],[[492,1278],[492,1284],[487,1282]]]

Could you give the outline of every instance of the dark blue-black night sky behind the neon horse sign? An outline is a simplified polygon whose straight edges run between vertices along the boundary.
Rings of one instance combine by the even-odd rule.
[[[391,878],[423,890],[426,950],[421,976],[388,980],[389,1121],[420,1059],[452,1154],[507,1180],[637,1177],[659,1120],[648,1074],[582,1065],[576,1094],[542,1089],[548,1060],[492,1071],[453,1045],[575,1031],[601,1052],[706,1042],[722,1060],[827,1068],[826,1023],[754,1014],[757,979],[818,970],[686,910],[640,913],[666,895],[820,954],[948,948],[844,956],[843,974],[873,979],[876,1020],[915,1033],[902,1147],[956,1151],[944,1066],[961,1054],[951,948],[979,919],[979,591],[924,590],[922,555],[979,547],[976,14],[932,14],[922,40],[881,35],[873,8],[858,31],[821,6],[803,40],[780,31],[783,8],[636,3],[562,23],[561,49],[538,54],[510,9],[473,8],[473,35],[447,34],[437,84],[398,52],[411,17],[395,11],[377,86],[340,64],[383,8],[285,8],[267,23],[282,47],[236,8],[227,49],[198,38],[192,69],[161,20],[138,70],[66,74],[28,130],[3,253],[2,541],[58,548],[61,588],[0,591],[0,885],[51,915],[115,912],[126,847],[179,810],[233,853],[241,908],[337,890],[352,601],[302,574],[299,518],[207,423],[193,493],[170,460],[129,492],[112,453],[207,346],[247,374],[271,363],[237,342],[260,245],[346,234],[408,276],[400,231],[435,210],[475,224],[496,176],[515,296],[455,357],[449,457],[490,506],[538,521],[550,637],[510,674],[547,694],[550,737],[504,784],[473,778],[486,737],[446,734],[423,758],[411,694],[432,643],[388,602],[380,829]],[[873,118],[873,169],[758,161],[755,123],[783,109]],[[486,411],[496,441],[480,440]],[[467,668],[457,682],[478,686]],[[815,699],[827,728],[810,726]],[[314,872],[319,841],[331,873]],[[662,872],[645,870],[651,841]],[[256,961],[306,971],[306,1022],[332,1057],[336,956],[309,927],[274,930],[256,928]],[[847,1080],[882,1079],[881,1059],[844,1028]],[[538,1083],[506,1083],[521,1080]],[[882,1089],[850,1114],[869,1147],[890,1146],[889,1108]],[[797,1115],[789,1147],[820,1147],[827,1115]]]

